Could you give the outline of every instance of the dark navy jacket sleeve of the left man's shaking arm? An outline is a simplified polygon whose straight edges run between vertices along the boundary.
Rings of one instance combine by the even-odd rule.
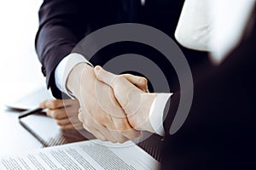
[[[57,98],[61,92],[55,86],[55,67],[84,35],[84,18],[79,0],[44,0],[39,9],[39,29],[36,50],[42,63],[48,88]],[[84,9],[85,10],[85,9]]]

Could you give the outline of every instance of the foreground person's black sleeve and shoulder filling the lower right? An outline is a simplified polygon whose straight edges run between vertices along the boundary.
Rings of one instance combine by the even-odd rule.
[[[200,82],[189,116],[169,135],[179,93],[172,96],[162,169],[255,169],[256,37],[254,33]]]

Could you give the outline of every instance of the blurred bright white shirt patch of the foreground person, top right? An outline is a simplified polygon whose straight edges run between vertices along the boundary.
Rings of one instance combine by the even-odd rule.
[[[212,32],[210,59],[220,64],[241,41],[255,0],[208,0]]]

